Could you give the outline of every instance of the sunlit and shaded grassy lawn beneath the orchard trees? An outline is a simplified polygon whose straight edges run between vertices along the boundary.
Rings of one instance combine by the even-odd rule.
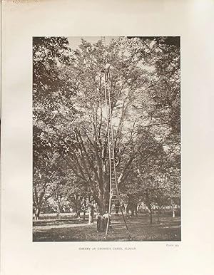
[[[113,218],[113,217],[112,217]],[[114,222],[114,218],[112,222]],[[120,217],[116,218],[116,223]],[[180,217],[153,217],[153,224],[149,224],[149,217],[141,215],[127,219],[128,229],[133,241],[180,241]],[[120,226],[118,226],[120,227]],[[113,225],[109,231],[107,241],[128,241],[126,229],[119,228],[118,232]],[[124,237],[121,237],[121,234]],[[96,221],[88,225],[87,220],[75,219],[63,215],[60,219],[54,216],[43,217],[34,222],[34,242],[81,242],[106,241],[105,233],[96,232]]]

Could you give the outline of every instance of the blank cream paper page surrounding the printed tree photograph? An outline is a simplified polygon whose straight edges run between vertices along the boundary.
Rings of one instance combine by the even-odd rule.
[[[1,274],[213,274],[213,1],[3,1]],[[32,37],[180,36],[182,240],[32,242]],[[177,244],[177,243],[176,243]]]

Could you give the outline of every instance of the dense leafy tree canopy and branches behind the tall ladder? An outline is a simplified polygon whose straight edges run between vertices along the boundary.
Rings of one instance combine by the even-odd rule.
[[[131,211],[179,204],[179,38],[117,38],[104,46],[34,38],[34,207],[58,194],[77,215],[109,199],[104,79],[110,64],[118,187]],[[55,200],[54,197],[56,198]]]

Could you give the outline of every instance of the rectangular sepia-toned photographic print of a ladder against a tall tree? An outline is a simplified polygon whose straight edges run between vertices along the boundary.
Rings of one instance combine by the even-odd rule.
[[[180,241],[180,37],[33,37],[33,241]]]

